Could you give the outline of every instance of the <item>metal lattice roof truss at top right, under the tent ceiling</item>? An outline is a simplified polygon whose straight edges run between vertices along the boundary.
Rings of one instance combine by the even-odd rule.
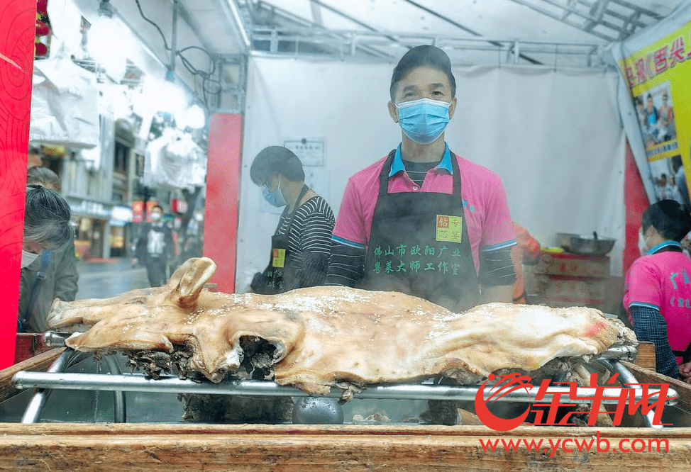
[[[623,40],[636,28],[646,28],[663,18],[625,0],[512,1],[607,41]]]

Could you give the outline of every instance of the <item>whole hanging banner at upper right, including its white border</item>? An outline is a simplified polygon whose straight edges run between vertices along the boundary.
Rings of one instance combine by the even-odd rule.
[[[629,86],[624,127],[651,203],[670,198],[691,211],[691,1],[612,48]],[[636,140],[638,142],[636,142]],[[636,153],[636,150],[639,150]],[[640,154],[643,154],[641,156]]]

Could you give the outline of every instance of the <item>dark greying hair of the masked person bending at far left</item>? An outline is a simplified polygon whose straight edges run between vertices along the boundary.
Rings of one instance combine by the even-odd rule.
[[[43,249],[58,249],[72,239],[70,206],[56,191],[40,185],[26,187],[24,239]]]

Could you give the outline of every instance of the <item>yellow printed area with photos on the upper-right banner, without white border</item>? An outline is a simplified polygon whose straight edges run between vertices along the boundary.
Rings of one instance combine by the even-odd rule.
[[[629,82],[657,200],[691,210],[691,21],[619,61]],[[645,176],[644,176],[645,178]]]

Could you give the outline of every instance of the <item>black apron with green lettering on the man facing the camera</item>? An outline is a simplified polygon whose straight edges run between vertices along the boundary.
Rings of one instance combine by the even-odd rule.
[[[389,153],[380,174],[361,286],[419,296],[457,313],[478,305],[480,284],[463,213],[458,160],[452,153],[450,194],[388,193],[395,154]]]

